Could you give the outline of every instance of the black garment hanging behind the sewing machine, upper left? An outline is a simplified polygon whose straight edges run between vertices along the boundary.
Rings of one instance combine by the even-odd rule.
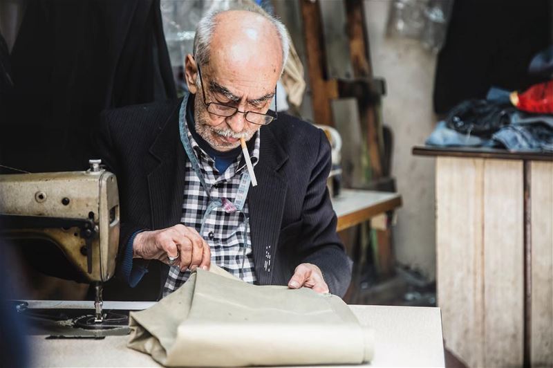
[[[3,164],[88,168],[100,111],[176,98],[159,0],[29,0],[0,116]]]

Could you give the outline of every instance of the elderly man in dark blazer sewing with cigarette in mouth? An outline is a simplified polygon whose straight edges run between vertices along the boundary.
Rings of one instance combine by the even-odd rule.
[[[351,265],[326,190],[328,141],[269,111],[287,55],[276,19],[214,12],[186,58],[189,94],[104,113],[100,154],[122,213],[122,282],[106,298],[158,299],[213,263],[245,282],[344,295]]]

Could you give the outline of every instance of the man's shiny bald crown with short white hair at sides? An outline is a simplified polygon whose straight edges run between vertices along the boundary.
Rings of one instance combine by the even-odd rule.
[[[279,75],[288,48],[285,26],[261,8],[211,12],[200,19],[194,38],[194,57],[200,65],[212,58],[244,66],[271,62],[277,63],[273,66]]]

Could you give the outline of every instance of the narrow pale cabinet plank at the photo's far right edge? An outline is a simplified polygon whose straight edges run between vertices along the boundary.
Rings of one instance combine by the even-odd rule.
[[[530,164],[532,367],[553,366],[553,163]]]

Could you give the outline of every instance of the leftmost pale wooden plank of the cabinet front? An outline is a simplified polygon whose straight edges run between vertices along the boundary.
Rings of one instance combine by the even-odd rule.
[[[436,272],[444,343],[469,367],[482,367],[485,355],[483,167],[478,158],[436,159]]]

